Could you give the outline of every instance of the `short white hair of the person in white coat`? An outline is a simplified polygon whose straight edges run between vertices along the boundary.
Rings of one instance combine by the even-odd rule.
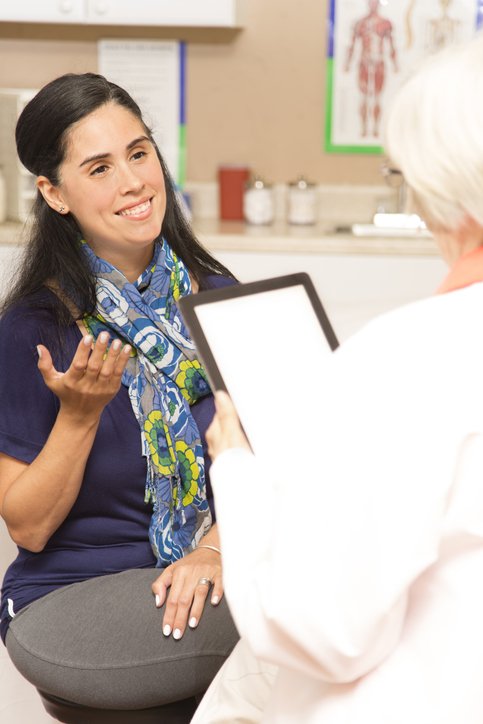
[[[483,226],[483,34],[426,61],[397,92],[385,150],[433,227]]]

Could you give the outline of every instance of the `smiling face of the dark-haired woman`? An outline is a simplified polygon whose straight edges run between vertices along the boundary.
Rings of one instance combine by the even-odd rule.
[[[116,266],[123,256],[149,257],[166,210],[164,177],[145,128],[126,108],[107,103],[72,127],[58,191],[98,256]]]

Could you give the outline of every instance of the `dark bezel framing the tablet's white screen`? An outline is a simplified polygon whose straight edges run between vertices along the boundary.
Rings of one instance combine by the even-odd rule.
[[[196,314],[196,308],[203,304],[222,302],[228,299],[248,296],[250,294],[259,294],[261,292],[269,292],[293,286],[304,287],[317,319],[319,320],[327,343],[330,349],[334,351],[339,346],[339,341],[325,312],[322,302],[320,301],[312,279],[306,272],[286,274],[280,277],[270,277],[269,279],[261,279],[255,282],[233,284],[222,287],[221,289],[203,290],[197,294],[190,294],[187,297],[178,299],[177,304],[181,310],[181,314],[183,315],[191,338],[196,345],[198,355],[206,370],[208,380],[213,391],[224,390],[227,392],[228,390],[216,359],[211,352],[211,348],[208,340],[206,339],[203,328],[199,322]]]

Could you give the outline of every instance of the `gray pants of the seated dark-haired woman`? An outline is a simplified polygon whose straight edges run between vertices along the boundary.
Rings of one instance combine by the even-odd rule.
[[[65,586],[22,609],[7,634],[18,670],[42,691],[104,709],[141,709],[202,693],[238,640],[223,598],[196,629],[162,633],[155,569]]]

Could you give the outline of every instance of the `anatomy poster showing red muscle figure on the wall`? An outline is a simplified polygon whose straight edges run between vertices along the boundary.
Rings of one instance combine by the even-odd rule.
[[[381,153],[384,109],[400,83],[482,24],[483,0],[329,0],[326,150]]]

